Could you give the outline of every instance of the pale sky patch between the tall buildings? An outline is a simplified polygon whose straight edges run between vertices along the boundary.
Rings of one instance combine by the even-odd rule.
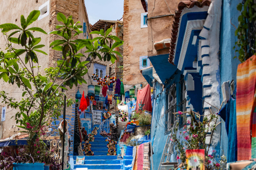
[[[85,0],[89,22],[99,20],[120,20],[124,13],[123,0]]]

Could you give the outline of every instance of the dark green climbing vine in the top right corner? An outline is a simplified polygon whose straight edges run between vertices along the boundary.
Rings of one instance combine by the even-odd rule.
[[[235,43],[236,52],[239,53],[238,59],[242,63],[256,53],[256,4],[254,0],[243,0],[237,5],[237,10],[241,11],[238,16],[238,27],[235,36],[238,40]],[[237,47],[240,49],[238,50]],[[237,56],[235,56],[237,57]]]

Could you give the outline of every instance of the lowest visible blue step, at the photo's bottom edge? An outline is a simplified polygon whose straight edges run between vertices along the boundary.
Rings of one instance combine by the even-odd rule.
[[[74,165],[74,168],[88,168],[88,169],[121,169],[121,164],[87,164],[87,165]]]

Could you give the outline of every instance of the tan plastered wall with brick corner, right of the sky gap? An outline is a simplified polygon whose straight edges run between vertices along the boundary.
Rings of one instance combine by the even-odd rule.
[[[140,73],[140,56],[147,56],[148,28],[141,28],[141,13],[144,13],[140,1],[124,1],[124,84],[146,82]]]

